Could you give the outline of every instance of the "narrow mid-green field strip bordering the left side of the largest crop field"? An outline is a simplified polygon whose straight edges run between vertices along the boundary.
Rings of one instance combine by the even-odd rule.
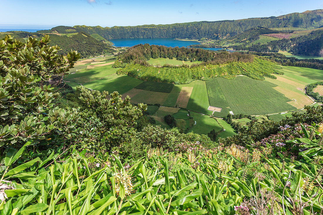
[[[221,112],[214,112],[215,116],[225,117],[231,111],[228,102],[226,101],[221,87],[218,83],[218,78],[213,78],[206,81],[207,96],[211,106],[222,108]]]

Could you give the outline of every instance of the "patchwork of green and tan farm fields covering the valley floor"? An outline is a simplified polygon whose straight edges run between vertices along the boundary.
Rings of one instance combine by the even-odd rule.
[[[166,60],[167,63],[176,61]],[[106,64],[106,61],[85,60],[76,67],[88,65],[98,67],[80,68],[74,74],[68,75],[66,83],[73,89],[81,84],[93,90],[105,90],[110,93],[118,91],[122,98],[129,96],[132,104],[150,104],[147,109],[148,115],[156,120],[156,125],[163,128],[170,128],[163,120],[165,115],[170,114],[176,119],[177,128],[183,131],[207,134],[213,129],[216,131],[224,129],[218,138],[232,136],[235,132],[224,120],[219,118],[216,120],[207,115],[213,113],[216,117],[224,117],[229,111],[233,111],[234,114],[260,114],[258,118],[263,120],[262,117],[266,114],[303,108],[304,105],[312,103],[304,94],[305,85],[323,80],[322,73],[315,69],[282,67],[285,74],[275,74],[277,79],[266,77],[265,81],[260,81],[238,76],[228,80],[217,77],[207,81],[196,80],[189,84],[174,85],[117,75],[118,68]],[[268,119],[277,120],[284,117],[277,114],[268,116]],[[241,121],[245,125],[248,119],[236,121]]]

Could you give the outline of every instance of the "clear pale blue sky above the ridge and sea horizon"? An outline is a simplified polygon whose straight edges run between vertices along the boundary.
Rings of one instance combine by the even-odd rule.
[[[323,8],[322,0],[0,1],[0,28],[12,25],[111,27],[171,24],[279,16]],[[15,12],[11,10],[13,8]]]

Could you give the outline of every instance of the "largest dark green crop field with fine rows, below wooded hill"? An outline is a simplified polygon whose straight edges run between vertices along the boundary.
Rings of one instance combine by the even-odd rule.
[[[291,100],[274,90],[276,85],[268,81],[245,76],[233,80],[218,78],[217,81],[235,114],[269,114],[296,109],[287,103]]]

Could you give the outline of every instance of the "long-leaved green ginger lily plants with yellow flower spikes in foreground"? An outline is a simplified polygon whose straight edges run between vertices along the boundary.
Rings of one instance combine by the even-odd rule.
[[[24,146],[2,159],[1,213],[321,214],[323,125],[307,129],[289,131],[297,157],[284,155],[286,143],[207,150],[196,142],[176,154],[150,149],[133,163],[82,155],[11,168]]]

